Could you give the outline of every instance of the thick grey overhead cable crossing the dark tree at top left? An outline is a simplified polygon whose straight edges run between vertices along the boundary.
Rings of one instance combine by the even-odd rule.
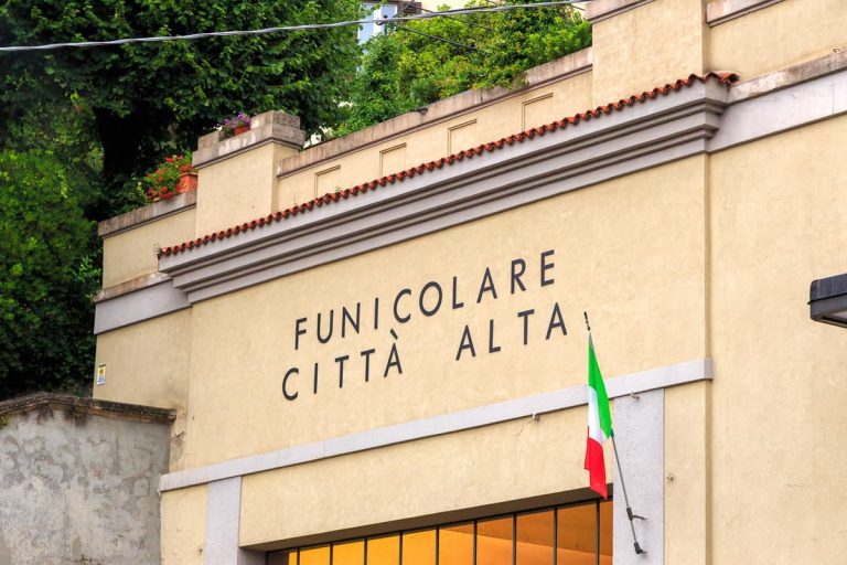
[[[486,13],[486,12],[505,12],[511,10],[530,10],[539,8],[554,8],[559,6],[571,6],[576,2],[583,2],[585,0],[559,0],[553,2],[537,2],[532,4],[504,4],[492,6],[490,8],[459,8],[453,10],[444,10],[441,12],[419,13],[414,15],[406,15],[399,18],[382,18],[380,23],[388,22],[408,22],[415,20],[428,20],[430,18],[444,18],[450,15],[464,15],[470,13]],[[186,35],[157,35],[151,38],[124,38],[119,40],[108,41],[77,41],[77,42],[64,42],[64,43],[49,43],[44,45],[11,45],[0,47],[2,52],[18,52],[18,51],[50,51],[56,49],[66,47],[100,47],[108,45],[126,45],[129,43],[161,43],[165,41],[194,41],[203,40],[207,38],[228,38],[234,35],[264,35],[268,33],[279,33],[285,31],[302,31],[302,30],[322,30],[333,28],[346,28],[350,25],[363,25],[371,23],[373,20],[351,20],[342,22],[331,23],[305,23],[300,25],[279,25],[275,28],[262,28],[259,30],[233,30],[233,31],[211,31],[202,33],[190,33]]]

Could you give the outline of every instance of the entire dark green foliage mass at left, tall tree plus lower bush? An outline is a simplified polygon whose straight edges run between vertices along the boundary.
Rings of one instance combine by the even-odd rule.
[[[357,0],[2,0],[0,45],[353,19]],[[144,204],[143,172],[236,110],[333,126],[354,28],[0,54],[0,398],[83,391],[94,224]],[[158,180],[158,179],[157,179]]]

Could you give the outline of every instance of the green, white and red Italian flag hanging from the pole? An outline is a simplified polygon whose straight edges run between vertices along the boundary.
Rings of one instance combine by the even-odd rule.
[[[586,470],[589,471],[591,490],[607,498],[605,460],[603,444],[612,437],[612,414],[609,412],[609,396],[605,394],[603,375],[594,355],[594,343],[588,334],[588,444],[586,445]]]

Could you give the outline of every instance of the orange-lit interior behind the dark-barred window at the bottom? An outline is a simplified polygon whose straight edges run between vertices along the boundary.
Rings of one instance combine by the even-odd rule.
[[[612,502],[269,553],[268,565],[612,565]]]

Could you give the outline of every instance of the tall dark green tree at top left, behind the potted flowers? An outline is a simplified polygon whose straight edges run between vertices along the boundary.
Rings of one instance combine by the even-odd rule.
[[[0,44],[180,35],[352,19],[356,0],[2,0]],[[355,72],[355,29],[0,54],[0,140],[33,100],[78,96],[111,188],[244,110],[333,126]]]

